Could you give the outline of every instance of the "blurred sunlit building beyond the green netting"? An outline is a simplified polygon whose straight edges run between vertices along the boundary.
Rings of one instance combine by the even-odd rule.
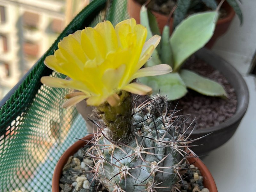
[[[0,0],[0,100],[89,0]]]

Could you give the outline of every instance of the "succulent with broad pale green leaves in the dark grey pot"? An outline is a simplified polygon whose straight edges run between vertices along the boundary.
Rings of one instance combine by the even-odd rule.
[[[175,28],[171,36],[168,23],[164,26],[160,46],[145,65],[148,67],[166,63],[173,70],[162,76],[139,78],[140,82],[153,88],[153,94],[160,90],[162,95],[167,95],[168,100],[176,100],[188,92],[188,87],[207,96],[227,97],[227,93],[219,83],[181,68],[186,59],[202,48],[212,37],[218,19],[218,9],[190,15]],[[140,23],[148,29],[147,38],[154,33],[159,34],[156,18],[145,5],[140,10]]]

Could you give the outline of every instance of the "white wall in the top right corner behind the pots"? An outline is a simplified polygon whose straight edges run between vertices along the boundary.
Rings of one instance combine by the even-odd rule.
[[[244,16],[242,26],[240,27],[238,17],[235,16],[228,32],[217,40],[212,50],[229,61],[242,74],[246,74],[256,50],[256,1],[241,1],[240,7]]]

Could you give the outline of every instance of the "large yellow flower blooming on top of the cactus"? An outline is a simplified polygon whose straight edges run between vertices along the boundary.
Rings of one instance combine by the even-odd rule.
[[[152,89],[132,82],[133,79],[172,70],[165,64],[140,69],[160,41],[160,36],[156,35],[145,43],[146,37],[147,29],[137,25],[134,19],[124,20],[115,28],[110,21],[104,21],[94,28],[78,30],[64,37],[58,44],[59,49],[44,62],[70,79],[44,76],[41,82],[51,87],[80,91],[66,95],[65,108],[84,99],[92,106],[105,101],[116,106],[120,90],[146,95]]]

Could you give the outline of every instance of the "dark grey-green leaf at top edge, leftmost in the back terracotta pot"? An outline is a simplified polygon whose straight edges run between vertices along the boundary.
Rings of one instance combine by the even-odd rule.
[[[186,17],[190,3],[191,0],[177,1],[177,8],[174,12],[173,18],[173,29],[175,29],[180,24],[180,22]]]

